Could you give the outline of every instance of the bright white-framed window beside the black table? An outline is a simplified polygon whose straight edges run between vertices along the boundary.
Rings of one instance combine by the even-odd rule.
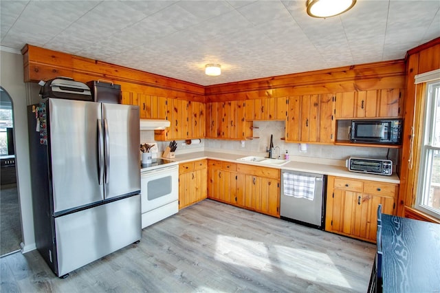
[[[426,84],[416,208],[440,218],[440,80]]]

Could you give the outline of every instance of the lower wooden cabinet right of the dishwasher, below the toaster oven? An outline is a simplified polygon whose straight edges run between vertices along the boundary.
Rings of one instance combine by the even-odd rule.
[[[376,241],[377,206],[395,215],[399,185],[329,176],[325,230]]]

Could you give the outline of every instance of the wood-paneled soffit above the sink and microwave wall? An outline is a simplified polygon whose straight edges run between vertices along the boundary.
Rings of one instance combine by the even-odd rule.
[[[404,60],[323,69],[206,87],[206,102],[404,88]]]

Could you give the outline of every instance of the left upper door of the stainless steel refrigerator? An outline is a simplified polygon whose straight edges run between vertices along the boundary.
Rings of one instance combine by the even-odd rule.
[[[48,99],[54,213],[104,199],[98,176],[97,102]]]

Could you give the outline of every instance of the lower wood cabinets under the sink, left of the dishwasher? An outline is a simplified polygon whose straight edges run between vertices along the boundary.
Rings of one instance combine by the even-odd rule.
[[[280,217],[280,170],[208,160],[208,198]]]

